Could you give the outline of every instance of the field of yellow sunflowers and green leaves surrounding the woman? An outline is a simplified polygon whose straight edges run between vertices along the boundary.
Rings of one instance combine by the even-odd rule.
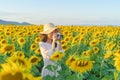
[[[0,25],[0,80],[120,80],[120,26],[62,26],[64,54],[55,52],[59,75],[42,77],[43,25]]]

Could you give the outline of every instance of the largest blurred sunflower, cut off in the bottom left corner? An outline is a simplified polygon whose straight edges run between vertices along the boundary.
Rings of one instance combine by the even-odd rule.
[[[23,69],[13,62],[2,64],[0,80],[23,80]]]

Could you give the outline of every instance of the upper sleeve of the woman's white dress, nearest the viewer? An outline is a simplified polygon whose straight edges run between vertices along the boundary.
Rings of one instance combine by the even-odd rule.
[[[53,50],[48,49],[47,45],[45,45],[45,43],[43,42],[39,42],[39,47],[40,47],[40,51],[41,51],[43,58],[49,58],[51,54],[53,53]]]

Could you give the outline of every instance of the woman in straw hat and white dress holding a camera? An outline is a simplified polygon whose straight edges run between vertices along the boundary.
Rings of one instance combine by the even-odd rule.
[[[40,35],[42,35],[42,41],[39,42],[39,47],[44,61],[44,66],[42,68],[41,74],[42,77],[45,77],[47,75],[54,76],[54,73],[52,71],[46,69],[48,65],[54,65],[54,62],[50,60],[50,56],[56,50],[64,52],[61,46],[62,38],[60,36],[56,36],[58,32],[60,33],[60,29],[55,27],[55,25],[52,23],[44,25],[44,31],[40,32]]]

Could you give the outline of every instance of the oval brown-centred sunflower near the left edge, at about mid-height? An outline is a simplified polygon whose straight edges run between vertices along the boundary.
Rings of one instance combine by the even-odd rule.
[[[15,46],[13,44],[5,44],[1,48],[1,51],[5,54],[13,52],[14,50],[15,50]]]

